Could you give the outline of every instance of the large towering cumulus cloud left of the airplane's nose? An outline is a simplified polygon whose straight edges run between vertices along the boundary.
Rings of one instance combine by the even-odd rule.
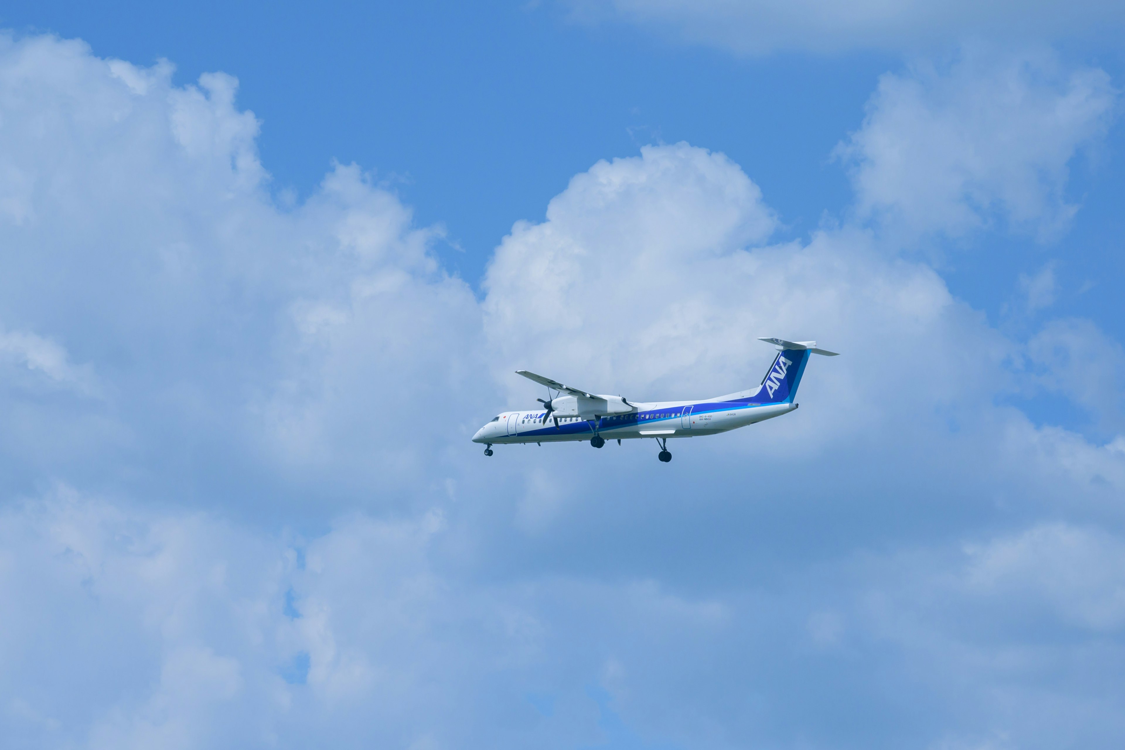
[[[206,466],[226,478],[216,491],[249,469],[331,495],[350,463],[412,481],[432,450],[380,443],[371,424],[408,419],[435,388],[450,418],[467,417],[479,335],[472,291],[429,254],[439,233],[354,165],[279,207],[236,81],[180,88],[171,73],[78,42],[0,40],[6,138],[19,144],[0,172],[18,177],[3,189],[22,207],[0,229],[0,319],[35,332],[3,347],[56,381],[84,377],[76,360],[109,383],[65,416],[22,399],[26,419],[0,431],[17,443],[30,424],[35,461],[69,476],[132,466],[188,482]]]

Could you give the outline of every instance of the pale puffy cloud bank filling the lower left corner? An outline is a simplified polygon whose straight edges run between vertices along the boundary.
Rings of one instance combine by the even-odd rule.
[[[554,719],[512,689],[558,666],[548,634],[519,588],[436,568],[443,535],[439,513],[352,515],[294,548],[68,488],[9,506],[0,602],[18,611],[0,625],[0,695],[14,706],[0,731],[83,748],[596,740],[580,675],[551,685],[567,693]]]

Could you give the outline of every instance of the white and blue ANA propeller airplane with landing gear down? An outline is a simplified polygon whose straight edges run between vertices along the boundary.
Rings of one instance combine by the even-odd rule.
[[[516,370],[516,374],[547,386],[547,398],[536,399],[542,408],[498,414],[477,431],[472,442],[484,443],[485,455],[492,455],[493,445],[508,443],[590,441],[594,448],[602,448],[606,437],[616,440],[619,445],[622,440],[655,437],[660,448],[657,459],[667,463],[672,460],[669,437],[717,435],[793,412],[798,406],[793,397],[809,355],[837,356],[837,352],[818,349],[814,341],[758,341],[777,349],[762,385],[696,401],[629,401],[622,396],[588,394],[534,372]]]

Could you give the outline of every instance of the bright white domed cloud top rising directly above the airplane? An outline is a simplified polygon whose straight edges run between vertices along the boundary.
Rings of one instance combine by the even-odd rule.
[[[649,386],[718,354],[696,340],[701,318],[744,349],[757,334],[722,311],[722,277],[748,263],[732,250],[775,226],[758,187],[722,154],[647,146],[595,164],[551,201],[546,223],[518,223],[496,250],[484,309],[497,376],[536,362],[604,383],[590,388],[620,387],[620,362],[626,382]]]

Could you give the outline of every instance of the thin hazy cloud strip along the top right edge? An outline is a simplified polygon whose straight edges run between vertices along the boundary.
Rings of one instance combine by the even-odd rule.
[[[582,21],[621,19],[740,55],[781,51],[917,52],[966,36],[1113,42],[1125,12],[1107,0],[567,0]]]

